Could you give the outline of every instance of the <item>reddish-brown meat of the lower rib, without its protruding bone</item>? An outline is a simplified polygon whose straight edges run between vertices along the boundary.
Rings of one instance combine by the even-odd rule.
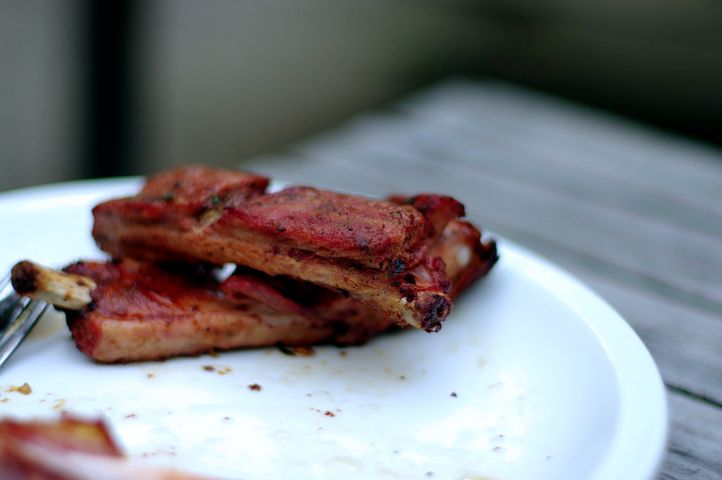
[[[67,310],[66,316],[78,348],[102,363],[279,343],[357,344],[390,324],[360,309],[345,315],[352,307],[308,318],[251,298],[227,298],[203,271],[167,270],[129,259],[78,262],[66,270],[97,285],[92,303],[80,311]]]

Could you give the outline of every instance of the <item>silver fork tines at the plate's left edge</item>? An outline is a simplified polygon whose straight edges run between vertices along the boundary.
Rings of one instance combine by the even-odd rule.
[[[10,284],[10,274],[0,280],[0,368],[42,317],[48,303],[21,297]]]

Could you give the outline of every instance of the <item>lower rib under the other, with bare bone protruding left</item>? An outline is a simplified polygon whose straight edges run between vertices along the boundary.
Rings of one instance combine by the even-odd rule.
[[[446,265],[452,298],[496,261],[493,242],[480,242],[479,232],[460,220],[448,223],[430,252]],[[335,290],[248,268],[222,283],[202,266],[131,259],[78,262],[65,270],[20,262],[13,285],[63,307],[78,348],[101,363],[278,343],[360,344],[393,325]]]

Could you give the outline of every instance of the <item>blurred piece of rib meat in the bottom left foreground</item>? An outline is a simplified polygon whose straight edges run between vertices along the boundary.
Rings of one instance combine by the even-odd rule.
[[[0,420],[3,480],[202,480],[128,462],[102,421]]]

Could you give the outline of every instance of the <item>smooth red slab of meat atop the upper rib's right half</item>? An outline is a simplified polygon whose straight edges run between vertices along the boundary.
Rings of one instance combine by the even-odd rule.
[[[311,187],[257,197],[229,213],[219,227],[371,268],[413,262],[414,247],[426,238],[424,217],[414,208]]]

